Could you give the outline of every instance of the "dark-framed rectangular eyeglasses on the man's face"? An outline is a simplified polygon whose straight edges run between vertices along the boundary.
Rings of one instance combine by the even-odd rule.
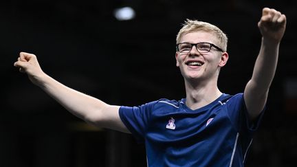
[[[187,54],[192,50],[192,46],[195,46],[199,53],[210,52],[211,47],[214,47],[217,50],[223,52],[223,49],[217,47],[212,43],[177,43],[177,52]]]

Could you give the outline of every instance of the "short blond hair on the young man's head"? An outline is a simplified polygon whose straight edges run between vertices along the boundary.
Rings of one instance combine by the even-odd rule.
[[[186,21],[183,24],[183,27],[181,27],[181,30],[179,30],[177,34],[176,42],[180,43],[181,36],[183,36],[184,34],[199,31],[210,32],[214,34],[214,36],[216,36],[218,39],[219,47],[221,47],[221,49],[223,49],[224,52],[227,51],[228,37],[226,36],[226,34],[221,29],[219,29],[219,27],[203,21],[186,19]]]

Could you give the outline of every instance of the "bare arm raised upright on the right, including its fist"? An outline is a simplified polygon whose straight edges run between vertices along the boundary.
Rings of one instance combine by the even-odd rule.
[[[263,8],[258,23],[262,34],[259,56],[256,58],[252,78],[244,91],[245,104],[254,120],[263,110],[278,61],[278,48],[285,33],[286,17],[274,9]]]

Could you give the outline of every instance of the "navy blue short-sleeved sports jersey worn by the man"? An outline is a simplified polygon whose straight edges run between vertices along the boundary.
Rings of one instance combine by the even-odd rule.
[[[148,166],[243,166],[259,120],[248,121],[243,93],[223,93],[199,109],[186,99],[120,107],[120,118],[144,142]]]

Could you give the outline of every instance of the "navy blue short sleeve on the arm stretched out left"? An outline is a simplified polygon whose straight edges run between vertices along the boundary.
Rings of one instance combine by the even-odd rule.
[[[142,104],[138,107],[120,107],[120,118],[126,128],[136,138],[137,142],[144,141],[144,135],[148,126],[147,122],[155,103],[156,102],[154,101]]]

